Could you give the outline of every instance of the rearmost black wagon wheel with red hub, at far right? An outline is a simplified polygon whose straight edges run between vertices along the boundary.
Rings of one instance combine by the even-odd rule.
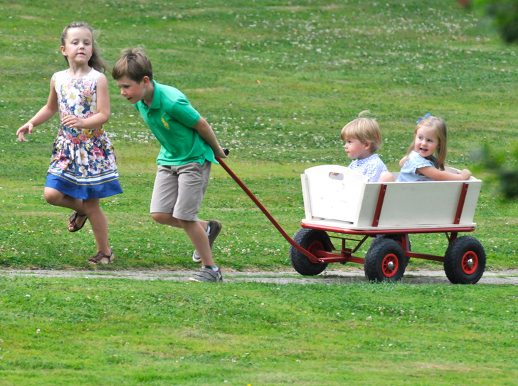
[[[475,284],[485,270],[485,251],[471,236],[453,240],[444,256],[444,271],[453,284]]]

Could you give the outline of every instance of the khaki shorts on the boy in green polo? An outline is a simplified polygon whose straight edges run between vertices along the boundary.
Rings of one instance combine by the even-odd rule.
[[[212,162],[159,165],[154,179],[151,213],[171,213],[175,219],[198,221],[198,212],[211,176]]]

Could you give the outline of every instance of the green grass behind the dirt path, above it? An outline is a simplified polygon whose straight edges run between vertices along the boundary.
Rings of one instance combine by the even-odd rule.
[[[300,173],[313,165],[349,163],[339,131],[361,110],[369,108],[379,121],[379,153],[394,170],[416,118],[427,112],[445,118],[449,164],[484,180],[473,235],[486,248],[488,268],[517,268],[516,202],[499,196],[496,175],[470,154],[488,145],[507,154],[505,167],[517,167],[514,150],[502,149],[502,139],[514,139],[518,59],[516,48],[504,46],[478,14],[446,0],[425,6],[92,1],[79,6],[80,14],[56,11],[53,4],[21,1],[0,8],[11,15],[0,35],[9,79],[0,85],[1,266],[85,268],[85,257],[94,252],[92,235],[67,234],[68,212],[41,198],[57,118],[37,127],[28,143],[14,136],[45,103],[52,73],[65,66],[57,51],[60,31],[83,19],[100,30],[97,40],[110,64],[121,48],[147,49],[157,81],[183,90],[211,122],[231,149],[228,165],[288,234],[304,217]],[[116,268],[192,268],[186,237],[157,226],[147,214],[157,141],[114,81],[110,94],[106,126],[125,193],[102,205]],[[201,217],[223,221],[216,259],[226,268],[289,266],[285,239],[219,167],[213,168]],[[442,255],[445,239],[416,236],[413,246]],[[416,268],[430,265],[440,268],[413,262]]]

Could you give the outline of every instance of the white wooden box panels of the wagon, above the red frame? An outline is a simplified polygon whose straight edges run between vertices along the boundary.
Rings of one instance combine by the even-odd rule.
[[[454,171],[455,169],[450,169]],[[397,174],[395,174],[397,177]],[[343,176],[343,178],[342,178]],[[462,187],[468,184],[462,216],[455,224]],[[382,184],[347,167],[323,165],[302,174],[307,221],[344,221],[350,229],[408,229],[475,226],[473,217],[482,181],[388,182],[379,216],[373,226]]]

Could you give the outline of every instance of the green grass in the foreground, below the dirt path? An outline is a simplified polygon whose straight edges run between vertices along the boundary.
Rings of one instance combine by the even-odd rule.
[[[514,286],[213,289],[6,278],[2,385],[36,375],[38,385],[513,385],[518,375]]]

